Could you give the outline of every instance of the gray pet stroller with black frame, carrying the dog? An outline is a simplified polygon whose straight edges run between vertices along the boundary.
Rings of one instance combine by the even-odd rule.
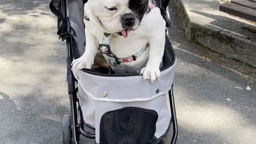
[[[63,143],[79,143],[80,135],[101,144],[164,143],[173,127],[175,143],[178,125],[173,98],[175,54],[166,35],[161,78],[151,84],[139,74],[102,74],[83,69],[73,73],[71,62],[85,51],[83,0],[52,0],[58,17],[60,39],[67,42],[67,81],[71,115],[63,118]],[[156,0],[166,27],[169,0]]]

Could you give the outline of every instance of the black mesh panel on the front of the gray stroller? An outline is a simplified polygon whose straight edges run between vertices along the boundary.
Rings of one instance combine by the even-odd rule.
[[[104,114],[100,122],[101,144],[151,144],[156,141],[156,111],[126,107]]]

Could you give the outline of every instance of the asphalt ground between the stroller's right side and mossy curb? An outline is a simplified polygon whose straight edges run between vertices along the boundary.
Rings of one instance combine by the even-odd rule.
[[[255,69],[189,43],[174,4],[170,6],[170,37],[178,57],[174,82],[178,143],[254,143],[256,81],[242,73],[256,74]]]

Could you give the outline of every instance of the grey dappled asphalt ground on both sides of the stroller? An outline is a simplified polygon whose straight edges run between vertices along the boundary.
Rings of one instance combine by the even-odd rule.
[[[62,116],[69,111],[66,46],[55,34],[49,2],[0,1],[0,143],[62,142]],[[174,7],[171,17],[177,143],[255,142],[256,84],[244,75],[255,69],[189,43]]]

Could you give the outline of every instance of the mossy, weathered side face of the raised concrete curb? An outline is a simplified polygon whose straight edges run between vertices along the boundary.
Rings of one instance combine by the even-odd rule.
[[[213,25],[200,25],[188,14],[183,0],[174,0],[181,25],[190,41],[256,68],[256,41]],[[198,21],[198,20],[197,20]]]

